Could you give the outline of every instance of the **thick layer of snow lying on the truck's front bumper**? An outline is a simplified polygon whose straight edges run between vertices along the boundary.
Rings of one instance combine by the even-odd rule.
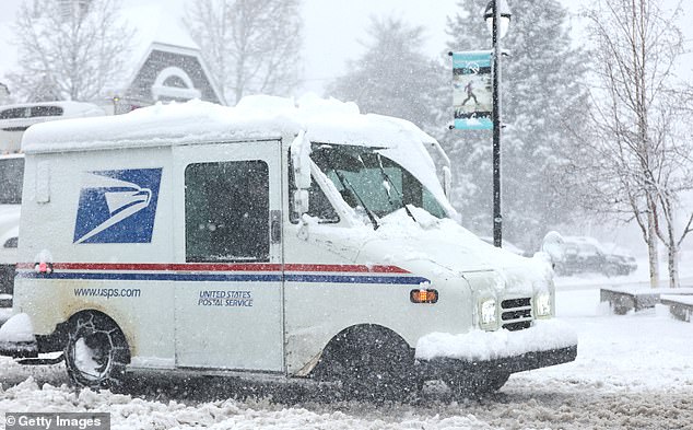
[[[577,335],[557,319],[535,321],[532,327],[508,332],[471,330],[462,335],[432,333],[419,339],[416,358],[454,358],[467,361],[486,361],[521,356],[531,351],[549,351],[572,347]]]

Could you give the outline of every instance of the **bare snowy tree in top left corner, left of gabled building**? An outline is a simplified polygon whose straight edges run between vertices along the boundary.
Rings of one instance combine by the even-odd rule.
[[[14,25],[19,69],[8,74],[17,98],[92,101],[119,78],[133,32],[116,0],[32,0]]]

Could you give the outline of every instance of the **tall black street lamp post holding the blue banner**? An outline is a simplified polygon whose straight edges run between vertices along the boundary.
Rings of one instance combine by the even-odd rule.
[[[503,243],[501,214],[501,38],[510,23],[510,8],[505,0],[491,0],[484,11],[493,39],[493,244]]]

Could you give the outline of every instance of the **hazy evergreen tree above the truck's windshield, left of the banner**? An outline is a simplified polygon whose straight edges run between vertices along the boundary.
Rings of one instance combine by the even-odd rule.
[[[328,85],[328,95],[355,102],[363,113],[433,126],[431,107],[447,91],[443,66],[421,50],[423,28],[401,19],[372,18],[367,33],[365,53],[348,61],[349,72]]]

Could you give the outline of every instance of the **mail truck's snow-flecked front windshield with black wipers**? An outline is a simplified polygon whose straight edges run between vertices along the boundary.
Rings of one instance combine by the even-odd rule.
[[[381,218],[411,205],[434,217],[446,217],[441,204],[414,175],[377,149],[318,144],[310,158],[352,208],[363,207]]]

